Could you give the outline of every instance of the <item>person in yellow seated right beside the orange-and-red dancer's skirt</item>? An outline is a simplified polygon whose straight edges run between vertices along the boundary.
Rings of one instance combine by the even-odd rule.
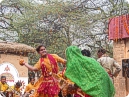
[[[35,79],[30,78],[30,83],[26,86],[25,93],[32,94],[32,92],[34,92],[34,89],[35,89],[34,83],[35,83]]]

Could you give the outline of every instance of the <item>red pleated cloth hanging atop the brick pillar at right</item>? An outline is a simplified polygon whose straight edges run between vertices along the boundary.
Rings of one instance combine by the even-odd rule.
[[[110,40],[129,38],[129,34],[123,24],[123,17],[128,21],[128,16],[129,15],[121,15],[109,19],[108,36]],[[125,22],[128,24],[127,21]]]

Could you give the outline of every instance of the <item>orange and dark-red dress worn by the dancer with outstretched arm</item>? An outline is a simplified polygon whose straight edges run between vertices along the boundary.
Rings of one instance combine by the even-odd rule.
[[[39,62],[34,66],[42,70],[42,77],[35,83],[37,88],[34,97],[57,97],[60,91],[57,80],[52,73],[58,73],[57,62],[65,63],[65,60],[56,54],[48,54],[45,58],[40,58]]]

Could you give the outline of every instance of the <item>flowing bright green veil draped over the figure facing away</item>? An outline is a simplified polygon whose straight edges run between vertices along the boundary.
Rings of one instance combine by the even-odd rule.
[[[103,69],[93,58],[83,56],[76,46],[66,50],[67,69],[65,76],[92,97],[114,97],[114,85]]]

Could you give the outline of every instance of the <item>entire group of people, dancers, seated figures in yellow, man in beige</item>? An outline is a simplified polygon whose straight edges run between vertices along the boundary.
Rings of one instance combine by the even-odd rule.
[[[43,45],[38,46],[36,51],[41,57],[34,66],[23,60],[19,62],[31,71],[42,71],[38,81],[30,78],[24,97],[114,97],[113,78],[117,77],[121,67],[106,54],[105,49],[98,50],[98,60],[91,57],[89,50],[81,51],[77,46],[66,49],[66,59],[48,54]],[[58,63],[64,67],[61,72]],[[13,90],[13,94],[17,91],[15,95],[21,95],[20,86],[21,83],[17,82],[9,87],[6,77],[1,77],[0,90],[4,94]]]

